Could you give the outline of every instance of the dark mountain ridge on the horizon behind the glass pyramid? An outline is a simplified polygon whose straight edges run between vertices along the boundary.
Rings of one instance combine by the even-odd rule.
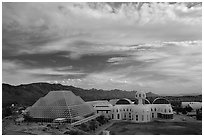
[[[113,99],[113,98],[129,98],[134,100],[136,91],[123,90],[102,90],[102,89],[82,89],[73,86],[65,86],[61,84],[49,83],[31,83],[25,85],[12,86],[2,84],[2,104],[4,106],[12,103],[32,105],[40,97],[45,96],[49,91],[53,90],[70,90],[75,95],[80,96],[85,101]],[[154,93],[147,93],[147,96],[157,96]]]

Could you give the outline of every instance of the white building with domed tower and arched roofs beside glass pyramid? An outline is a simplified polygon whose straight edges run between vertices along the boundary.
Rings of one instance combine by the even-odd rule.
[[[92,104],[97,113],[114,120],[131,122],[149,122],[152,119],[172,119],[173,110],[166,99],[157,98],[152,104],[142,91],[136,92],[135,102],[129,99],[118,99],[114,105],[108,101]]]

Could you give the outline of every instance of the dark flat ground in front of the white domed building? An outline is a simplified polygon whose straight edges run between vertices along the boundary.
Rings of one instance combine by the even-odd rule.
[[[106,130],[112,135],[201,135],[202,122],[180,115],[174,120],[150,123],[116,122]]]

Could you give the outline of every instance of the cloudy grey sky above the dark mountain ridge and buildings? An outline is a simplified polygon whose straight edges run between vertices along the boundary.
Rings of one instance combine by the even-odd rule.
[[[202,91],[201,3],[3,3],[2,82]]]

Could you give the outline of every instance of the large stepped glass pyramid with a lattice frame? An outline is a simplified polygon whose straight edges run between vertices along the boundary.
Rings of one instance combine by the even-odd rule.
[[[29,109],[32,118],[73,119],[94,113],[94,108],[71,91],[51,91]]]

